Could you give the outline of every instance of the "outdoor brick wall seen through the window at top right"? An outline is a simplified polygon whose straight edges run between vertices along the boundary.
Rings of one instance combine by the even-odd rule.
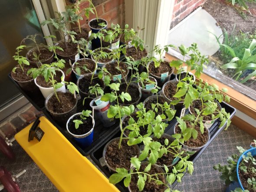
[[[174,10],[170,29],[180,23],[195,9],[200,7],[206,0],[174,0]]]

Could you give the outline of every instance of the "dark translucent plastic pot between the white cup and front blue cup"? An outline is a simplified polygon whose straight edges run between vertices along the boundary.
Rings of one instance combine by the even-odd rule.
[[[61,91],[57,91],[57,93],[58,92],[62,92],[62,93],[66,93],[66,94],[71,94],[69,92],[69,90],[61,90]],[[49,110],[48,102],[49,102],[49,99],[52,98],[52,97],[55,97],[55,93],[50,94],[48,96],[48,98],[46,98],[46,101],[45,101],[46,110],[51,114],[51,116],[53,117],[54,120],[56,120],[57,123],[59,123],[62,126],[66,125],[66,122],[69,120],[69,117],[71,117],[77,111],[77,102],[80,99],[80,95],[77,95],[74,98],[75,99],[75,105],[69,111],[66,111],[64,113],[57,113],[57,112]]]

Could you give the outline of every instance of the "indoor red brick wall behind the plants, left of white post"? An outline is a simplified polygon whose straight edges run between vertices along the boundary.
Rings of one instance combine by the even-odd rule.
[[[94,5],[98,13],[98,18],[103,18],[108,22],[108,26],[111,23],[118,23],[121,27],[125,25],[125,0],[94,0]],[[81,3],[81,10],[88,7],[88,2]],[[89,20],[82,14],[83,20],[80,22],[82,26],[88,27],[88,22],[91,19],[96,18],[94,14],[90,14]]]

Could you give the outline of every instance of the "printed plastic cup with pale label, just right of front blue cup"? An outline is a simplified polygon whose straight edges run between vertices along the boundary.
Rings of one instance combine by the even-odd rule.
[[[96,105],[95,101],[98,101],[98,99],[100,99],[101,96],[93,99],[90,102],[90,106],[92,108],[94,108],[94,111],[96,113],[96,115],[98,116],[99,120],[102,122],[102,125],[104,127],[110,127],[112,125],[115,124],[115,118],[108,118],[108,109],[110,106],[110,102],[109,101],[99,101],[100,104]]]

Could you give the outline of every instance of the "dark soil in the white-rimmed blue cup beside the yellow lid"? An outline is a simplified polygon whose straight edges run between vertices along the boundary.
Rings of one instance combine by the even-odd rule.
[[[73,120],[82,120],[83,124],[79,125],[78,129],[75,129],[75,123]],[[69,120],[69,131],[75,135],[83,135],[85,133],[88,133],[92,129],[92,118],[86,117],[85,120],[80,118],[80,115],[73,117],[71,120]]]

